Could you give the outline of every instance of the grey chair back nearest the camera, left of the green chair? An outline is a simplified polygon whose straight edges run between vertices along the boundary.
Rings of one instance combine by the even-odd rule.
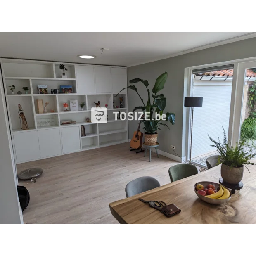
[[[135,194],[140,194],[156,187],[160,187],[160,183],[155,178],[149,176],[140,177],[126,185],[126,197],[132,197]]]

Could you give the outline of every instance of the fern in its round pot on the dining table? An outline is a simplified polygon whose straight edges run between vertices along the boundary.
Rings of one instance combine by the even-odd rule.
[[[222,127],[223,128],[223,127]],[[221,164],[221,177],[223,180],[230,184],[239,183],[244,174],[244,166],[246,164],[254,164],[249,160],[256,156],[253,152],[253,147],[246,143],[246,140],[242,139],[234,146],[228,143],[225,129],[223,143],[213,140],[208,134],[209,139],[213,143],[212,147],[216,147],[219,155],[218,164]],[[247,168],[247,166],[245,166]],[[249,169],[247,168],[249,171]]]

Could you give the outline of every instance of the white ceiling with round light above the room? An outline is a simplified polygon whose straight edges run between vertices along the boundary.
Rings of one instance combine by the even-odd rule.
[[[0,56],[134,66],[252,30],[0,30]],[[254,33],[251,37],[256,36]],[[224,41],[219,44],[229,43]],[[206,46],[211,47],[214,45]],[[101,55],[100,48],[109,48]],[[199,49],[196,49],[199,50]],[[185,52],[186,53],[186,52]],[[81,59],[77,55],[95,55]]]

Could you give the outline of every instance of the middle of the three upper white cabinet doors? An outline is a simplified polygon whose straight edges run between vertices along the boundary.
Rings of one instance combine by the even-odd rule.
[[[111,93],[111,68],[95,66],[96,92]]]

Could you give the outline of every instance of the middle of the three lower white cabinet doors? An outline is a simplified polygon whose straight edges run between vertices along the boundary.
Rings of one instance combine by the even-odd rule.
[[[59,129],[38,130],[41,157],[62,154]]]

